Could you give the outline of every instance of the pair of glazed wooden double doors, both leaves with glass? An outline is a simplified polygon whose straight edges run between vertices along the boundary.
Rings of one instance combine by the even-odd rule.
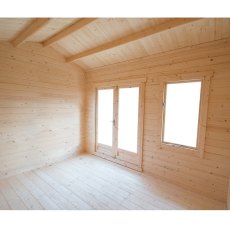
[[[97,89],[96,152],[141,165],[143,85]]]

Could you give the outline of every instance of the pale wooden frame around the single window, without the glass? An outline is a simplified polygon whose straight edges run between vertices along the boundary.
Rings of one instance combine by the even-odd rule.
[[[180,153],[190,154],[197,157],[204,157],[204,146],[205,146],[205,133],[207,123],[207,111],[208,111],[208,97],[210,79],[213,73],[190,73],[177,76],[164,77],[163,80],[163,94],[161,100],[162,107],[162,121],[161,121],[161,135],[160,135],[160,148],[168,151],[176,151]],[[166,100],[166,89],[167,84],[183,83],[183,82],[201,82],[200,92],[200,106],[199,106],[199,117],[198,117],[198,130],[197,130],[197,144],[196,147],[180,145],[176,143],[170,143],[164,141],[164,129],[165,129],[165,100]]]

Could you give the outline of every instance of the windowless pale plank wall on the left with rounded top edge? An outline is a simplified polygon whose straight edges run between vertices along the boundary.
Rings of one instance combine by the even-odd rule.
[[[0,43],[0,178],[84,149],[85,73],[52,48]]]

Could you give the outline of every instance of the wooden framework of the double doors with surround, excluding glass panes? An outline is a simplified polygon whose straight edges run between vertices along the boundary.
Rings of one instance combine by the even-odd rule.
[[[145,82],[146,78],[132,79],[132,80],[119,80],[95,84],[95,152],[94,154],[113,162],[119,163],[126,167],[142,171],[142,158],[143,158],[143,126],[144,126],[144,98],[145,98]],[[118,100],[119,88],[139,87],[139,116],[138,116],[138,146],[137,153],[131,153],[126,150],[118,149]],[[98,90],[101,89],[114,89],[113,98],[113,119],[115,124],[113,126],[113,146],[98,144],[97,143],[97,123],[98,123]],[[135,154],[135,155],[134,155]]]

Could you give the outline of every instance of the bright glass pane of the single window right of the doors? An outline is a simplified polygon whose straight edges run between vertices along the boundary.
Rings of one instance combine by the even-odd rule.
[[[196,147],[201,82],[169,83],[166,87],[164,141]]]

